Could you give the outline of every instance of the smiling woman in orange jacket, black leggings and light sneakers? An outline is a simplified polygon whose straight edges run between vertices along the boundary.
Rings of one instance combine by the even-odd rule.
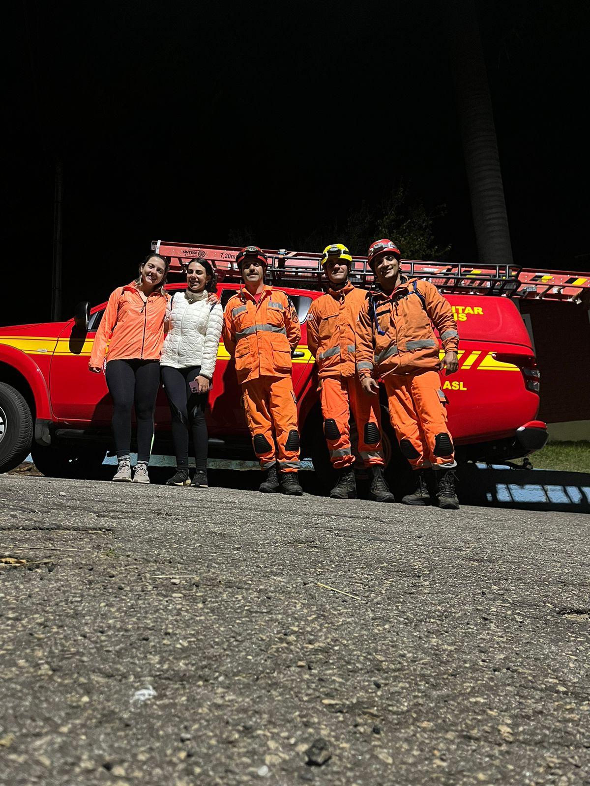
[[[131,407],[135,403],[138,460],[133,482],[149,483],[153,410],[168,308],[162,287],[169,264],[160,254],[149,254],[135,281],[111,293],[90,354],[90,371],[99,374],[104,367],[112,396],[112,432],[119,464],[113,480],[131,480]]]

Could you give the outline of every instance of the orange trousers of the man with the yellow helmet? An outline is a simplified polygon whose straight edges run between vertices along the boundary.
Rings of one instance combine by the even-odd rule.
[[[349,467],[355,460],[350,444],[350,410],[356,421],[359,433],[359,454],[365,466],[383,465],[381,450],[381,418],[379,416],[378,396],[368,396],[360,387],[356,376],[342,379],[339,376],[326,376],[319,391],[322,405],[324,435],[330,452],[330,461],[335,468]],[[333,420],[340,436],[330,439],[326,433],[326,421]],[[367,424],[373,424],[367,432]],[[377,439],[367,443],[366,437]]]

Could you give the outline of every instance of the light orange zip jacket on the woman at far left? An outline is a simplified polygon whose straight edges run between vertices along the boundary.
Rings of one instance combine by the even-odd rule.
[[[135,284],[111,292],[98,325],[88,365],[98,368],[105,359],[159,360],[164,343],[164,315],[168,295],[152,292],[144,303]]]

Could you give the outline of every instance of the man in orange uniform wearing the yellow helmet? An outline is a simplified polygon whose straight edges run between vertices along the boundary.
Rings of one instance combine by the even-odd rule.
[[[319,376],[323,431],[330,461],[340,470],[334,499],[356,498],[355,457],[350,444],[350,410],[359,434],[359,452],[371,472],[371,497],[380,502],[395,501],[382,468],[381,418],[378,397],[364,395],[355,368],[355,327],[367,290],[348,281],[352,256],[341,243],[326,246],[322,266],[330,288],[314,300],[307,320],[308,347],[315,356]]]

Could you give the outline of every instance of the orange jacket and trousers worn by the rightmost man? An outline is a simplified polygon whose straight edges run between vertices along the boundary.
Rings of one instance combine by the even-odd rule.
[[[448,301],[430,281],[403,278],[390,295],[371,293],[356,327],[356,369],[361,379],[382,378],[400,450],[415,469],[456,466],[433,325],[444,351],[457,351]]]

